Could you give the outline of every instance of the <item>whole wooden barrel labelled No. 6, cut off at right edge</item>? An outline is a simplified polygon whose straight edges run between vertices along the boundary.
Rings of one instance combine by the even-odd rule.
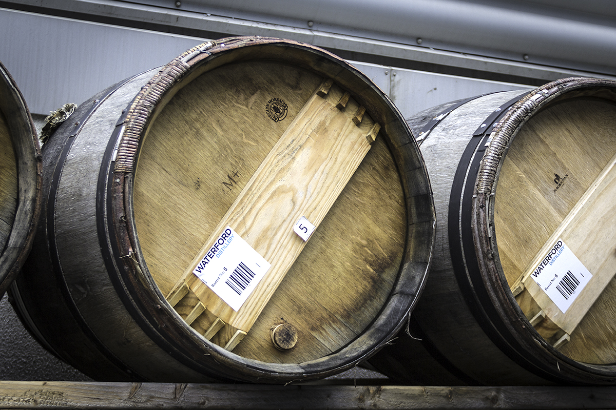
[[[437,245],[413,337],[373,365],[422,384],[616,381],[615,101],[616,82],[569,78],[408,119]]]

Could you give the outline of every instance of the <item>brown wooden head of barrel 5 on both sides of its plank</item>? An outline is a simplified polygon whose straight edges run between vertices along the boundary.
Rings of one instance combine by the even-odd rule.
[[[197,77],[160,112],[140,151],[134,214],[147,268],[164,294],[321,81],[274,62],[235,64]],[[285,120],[265,115],[272,97],[288,104]],[[370,116],[351,99],[345,113],[358,112],[370,124]],[[377,139],[288,279],[233,352],[301,363],[336,352],[362,333],[382,309],[400,269],[407,232],[404,204],[392,154]],[[175,309],[187,318],[197,301],[191,292]],[[206,334],[216,319],[205,311],[191,326]],[[269,329],[285,321],[298,328],[299,342],[281,353]],[[235,333],[226,327],[208,339],[224,346]]]

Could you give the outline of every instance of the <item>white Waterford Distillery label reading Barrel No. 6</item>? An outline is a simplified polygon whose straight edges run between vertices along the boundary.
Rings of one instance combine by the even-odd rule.
[[[556,241],[530,276],[562,313],[593,277],[562,239]]]

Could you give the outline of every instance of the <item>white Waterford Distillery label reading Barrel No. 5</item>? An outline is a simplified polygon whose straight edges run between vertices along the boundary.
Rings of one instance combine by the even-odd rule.
[[[193,274],[237,312],[270,266],[227,226],[201,258]]]

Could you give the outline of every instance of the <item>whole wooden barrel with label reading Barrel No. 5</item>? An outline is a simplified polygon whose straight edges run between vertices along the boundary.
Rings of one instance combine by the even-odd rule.
[[[435,217],[418,146],[316,47],[206,42],[81,104],[43,156],[14,296],[94,379],[328,376],[385,344],[423,288]],[[234,265],[214,277],[229,276],[200,280],[223,250]]]

